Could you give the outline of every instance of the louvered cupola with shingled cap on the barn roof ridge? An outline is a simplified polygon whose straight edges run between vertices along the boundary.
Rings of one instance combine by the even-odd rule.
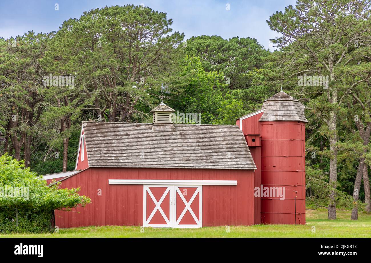
[[[161,101],[160,105],[150,111],[150,113],[153,113],[152,130],[175,130],[172,118],[173,112],[175,112],[175,110],[171,109],[163,101]]]

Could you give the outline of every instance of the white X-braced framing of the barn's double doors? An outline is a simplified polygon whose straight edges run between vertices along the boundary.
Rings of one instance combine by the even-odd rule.
[[[150,187],[167,187],[165,192],[162,194],[160,200],[156,200],[154,195],[152,194]],[[187,187],[187,188],[197,188],[196,191],[193,193],[193,196],[187,202],[185,200],[183,194],[180,192],[179,187]],[[147,219],[147,193],[151,197],[152,201],[155,204],[155,208],[151,212],[150,216]],[[164,201],[165,197],[167,194],[170,194],[170,204],[169,204],[169,217],[167,218],[164,211],[161,208],[161,204]],[[199,220],[197,219],[196,215],[194,214],[193,210],[191,209],[191,204],[196,198],[197,194],[199,194]],[[177,195],[180,196],[181,200],[185,204],[185,207],[183,209],[183,212],[180,214],[178,220],[176,219],[177,216]],[[162,217],[164,218],[165,222],[167,224],[150,224],[152,217],[154,214],[157,212],[157,210],[161,213]],[[184,214],[189,211],[195,220],[197,224],[179,224],[181,219],[183,219]],[[143,185],[143,226],[145,227],[180,227],[180,228],[198,228],[202,227],[202,185],[169,185],[169,184],[164,184],[164,185]]]

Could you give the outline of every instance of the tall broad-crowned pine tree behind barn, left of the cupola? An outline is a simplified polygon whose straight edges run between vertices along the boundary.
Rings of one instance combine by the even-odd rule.
[[[143,115],[135,106],[153,104],[162,81],[170,81],[176,47],[165,13],[142,6],[112,6],[69,19],[53,39],[49,63],[74,74],[85,93],[81,110],[108,121]]]

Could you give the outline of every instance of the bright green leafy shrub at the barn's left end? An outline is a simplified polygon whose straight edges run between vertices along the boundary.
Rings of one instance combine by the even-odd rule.
[[[47,186],[23,161],[4,154],[0,157],[0,233],[52,232],[55,209],[90,203],[79,190],[60,189],[59,183]]]

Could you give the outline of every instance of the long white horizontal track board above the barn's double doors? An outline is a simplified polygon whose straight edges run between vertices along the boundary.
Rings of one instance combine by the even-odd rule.
[[[237,181],[236,180],[142,180],[142,179],[108,179],[108,184],[237,185]]]

